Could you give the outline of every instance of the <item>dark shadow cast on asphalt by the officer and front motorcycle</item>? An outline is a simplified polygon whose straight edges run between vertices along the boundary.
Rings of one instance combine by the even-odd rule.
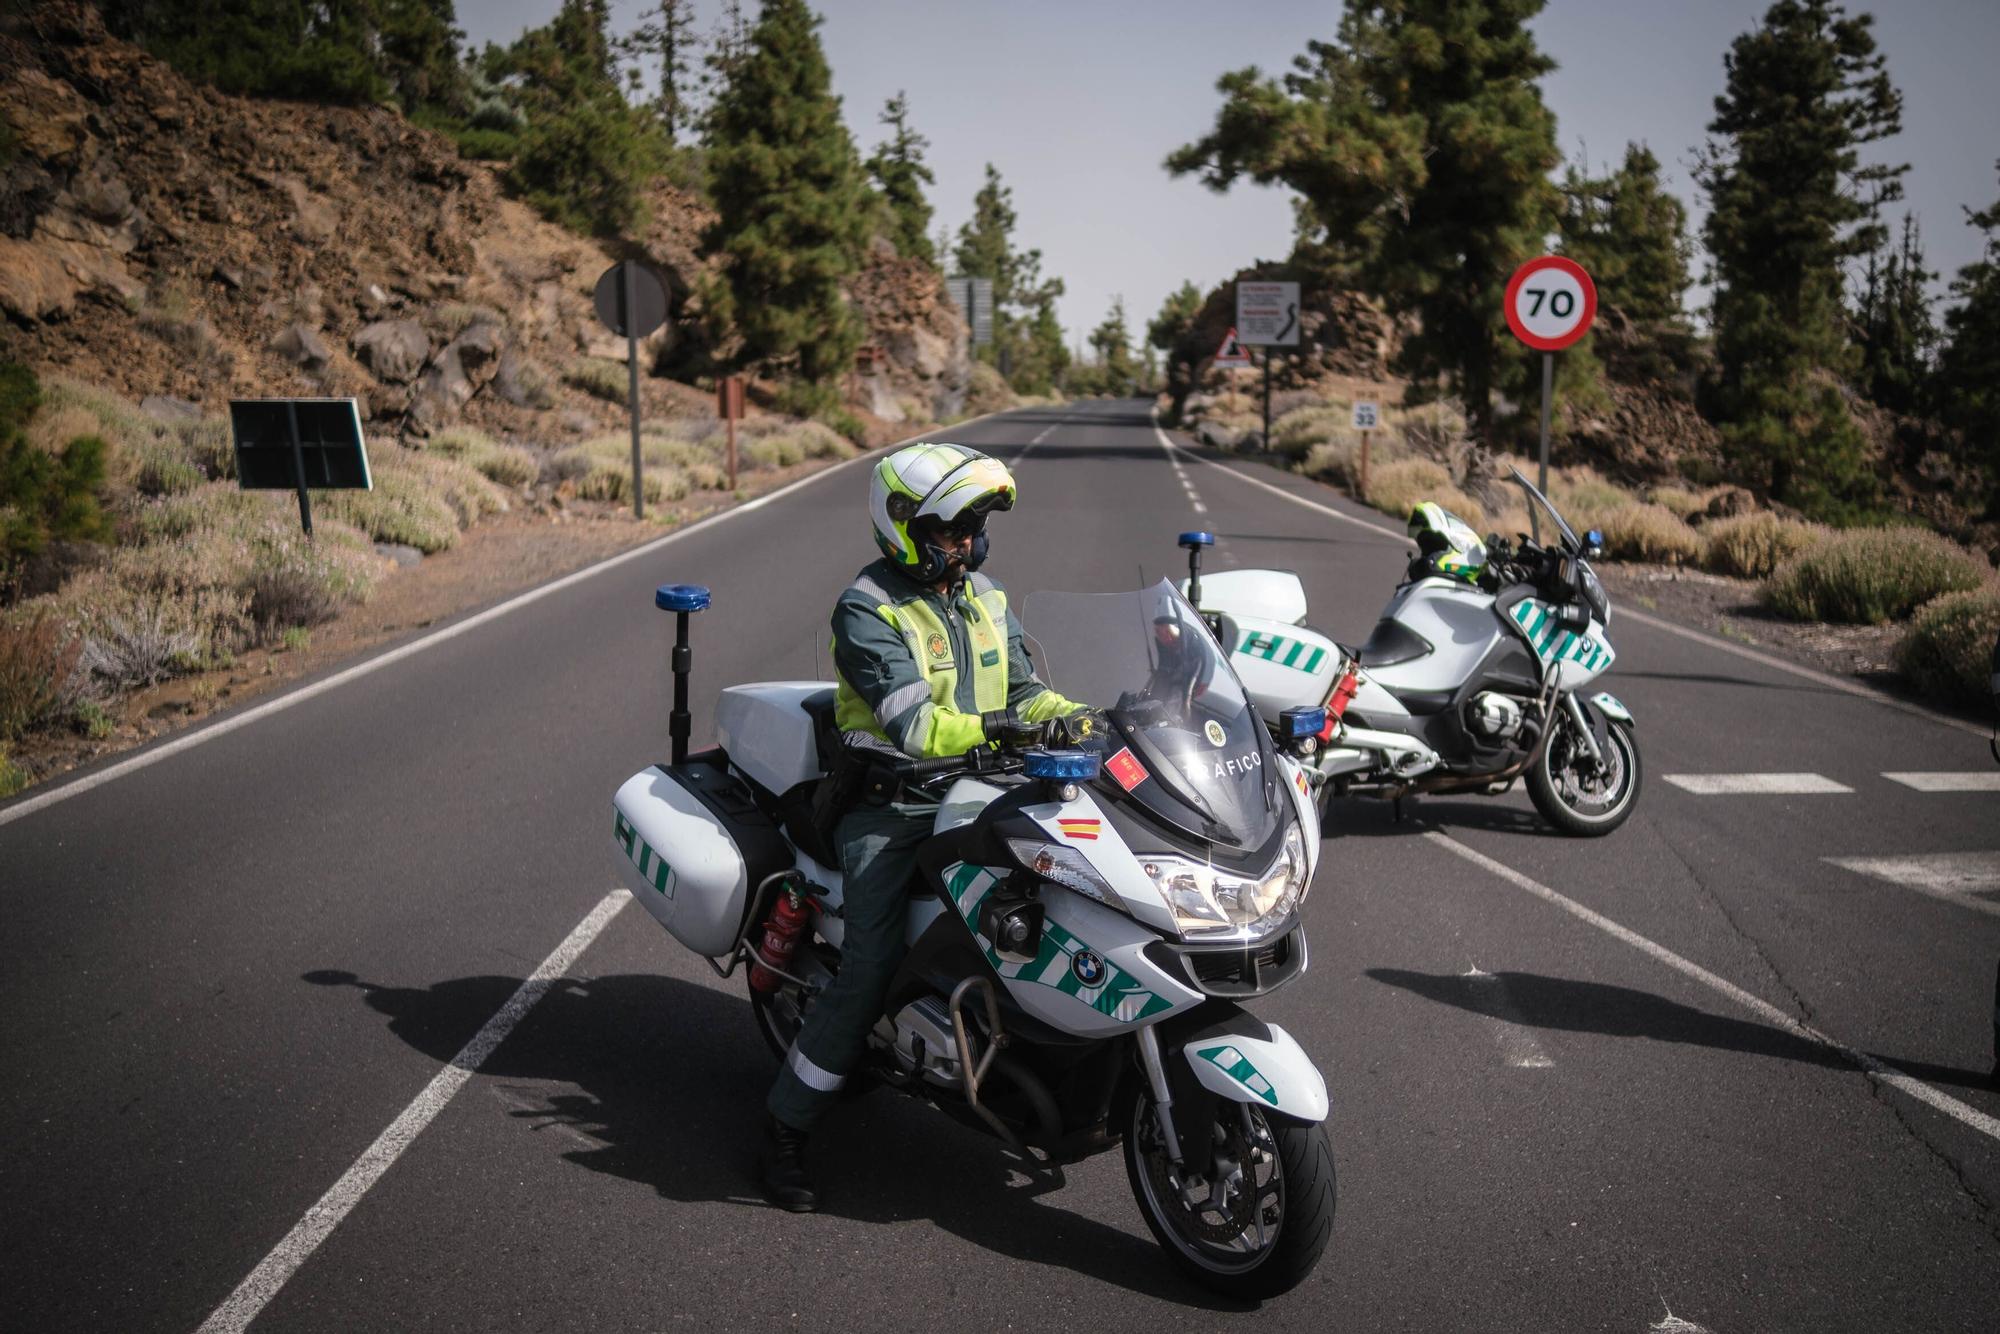
[[[450,1062],[520,988],[520,978],[452,978],[428,988],[374,986],[352,972],[304,974],[354,986],[392,1034]],[[676,978],[620,974],[556,982],[486,1058],[492,1080],[546,1080],[562,1090],[512,1112],[534,1130],[568,1126],[596,1148],[564,1158],[652,1186],[668,1200],[770,1208],[752,1178],[764,1094],[778,1062],[748,1000]],[[890,1162],[890,1170],[882,1164]],[[1058,1186],[1018,1182],[1000,1144],[886,1092],[862,1094],[814,1136],[824,1212],[870,1224],[930,1218],[994,1254],[1074,1270],[1146,1296],[1206,1310],[1250,1310],[1180,1278],[1144,1232],[1120,1232],[1050,1202]],[[750,1224],[760,1226],[756,1222]]]

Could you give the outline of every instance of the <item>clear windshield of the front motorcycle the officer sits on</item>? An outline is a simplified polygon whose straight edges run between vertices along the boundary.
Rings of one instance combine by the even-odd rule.
[[[1116,594],[1036,592],[1024,628],[1042,648],[1044,680],[1112,720],[1104,782],[1206,842],[1270,840],[1284,810],[1270,734],[1170,582]]]

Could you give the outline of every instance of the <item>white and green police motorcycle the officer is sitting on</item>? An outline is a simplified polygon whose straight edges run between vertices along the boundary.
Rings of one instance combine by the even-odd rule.
[[[730,686],[688,754],[688,614],[676,612],[672,762],[618,788],[612,852],[634,898],[720,976],[746,968],[780,1058],[840,968],[836,784],[938,802],[910,886],[910,952],[866,1074],[998,1136],[1028,1170],[1122,1144],[1154,1238],[1194,1280],[1268,1298],[1332,1232],[1326,1082],[1240,1002],[1306,968],[1300,908],[1320,826],[1296,758],[1324,710],[1258,718],[1166,580],[1036,594],[1028,624],[1070,698],[1108,702],[1074,750],[876,752],[858,780],[820,682]],[[856,1080],[850,1080],[850,1088]]]

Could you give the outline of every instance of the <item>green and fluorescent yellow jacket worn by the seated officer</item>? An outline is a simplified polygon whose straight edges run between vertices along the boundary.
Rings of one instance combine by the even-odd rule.
[[[834,672],[840,730],[920,760],[984,744],[988,710],[1044,722],[1082,708],[1034,674],[1000,584],[970,574],[946,598],[888,560],[856,574],[834,604]]]

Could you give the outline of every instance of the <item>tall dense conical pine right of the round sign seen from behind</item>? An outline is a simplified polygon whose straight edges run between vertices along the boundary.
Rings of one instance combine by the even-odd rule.
[[[742,336],[740,362],[796,358],[826,386],[854,364],[862,322],[844,282],[868,242],[868,184],[840,122],[840,98],[804,0],[766,0],[708,112],[708,192],[716,222],[702,234],[720,256],[712,316]]]

